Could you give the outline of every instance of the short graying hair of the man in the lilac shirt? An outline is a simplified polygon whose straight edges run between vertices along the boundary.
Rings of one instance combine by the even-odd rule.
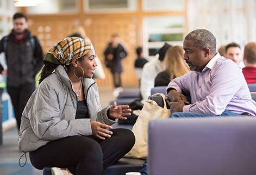
[[[209,48],[210,51],[216,51],[216,38],[205,29],[196,29],[186,35],[185,40],[193,40],[199,49]]]

